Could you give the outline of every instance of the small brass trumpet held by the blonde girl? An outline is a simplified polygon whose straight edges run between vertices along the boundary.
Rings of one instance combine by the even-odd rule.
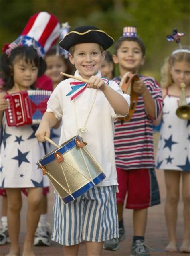
[[[176,110],[176,115],[181,119],[190,119],[190,106],[186,102],[185,98],[185,83],[180,84],[181,95],[179,100],[179,107]]]

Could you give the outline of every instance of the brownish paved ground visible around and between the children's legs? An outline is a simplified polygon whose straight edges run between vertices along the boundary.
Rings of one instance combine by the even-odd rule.
[[[155,143],[157,142],[157,137]],[[156,171],[158,183],[160,186],[160,194],[162,203],[160,205],[151,207],[148,213],[148,223],[146,229],[146,242],[155,252],[152,252],[152,256],[190,256],[190,254],[184,253],[167,253],[164,252],[164,247],[167,244],[167,230],[164,217],[164,203],[166,199],[166,190],[164,185],[164,175],[162,171]],[[53,207],[53,189],[49,193],[49,222],[51,223],[51,212]],[[20,244],[22,246],[24,240],[24,234],[26,231],[25,226],[25,213],[26,213],[26,200],[23,197],[23,209],[21,213],[21,234],[20,234]],[[124,222],[126,229],[126,239],[121,242],[119,250],[116,252],[103,250],[103,256],[129,256],[131,239],[133,234],[132,229],[132,211],[124,211]],[[178,226],[177,226],[177,237],[178,237],[178,247],[182,242],[182,232],[183,232],[183,223],[182,223],[182,201],[178,206]],[[9,245],[0,246],[0,256],[8,253]],[[52,243],[50,247],[35,247],[36,256],[63,256],[62,247],[57,243]],[[85,256],[85,243],[82,243],[79,249],[79,255]]]

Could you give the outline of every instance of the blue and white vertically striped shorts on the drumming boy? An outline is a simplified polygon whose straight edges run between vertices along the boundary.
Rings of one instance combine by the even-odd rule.
[[[119,237],[117,186],[93,187],[68,204],[55,192],[51,239],[66,246]]]

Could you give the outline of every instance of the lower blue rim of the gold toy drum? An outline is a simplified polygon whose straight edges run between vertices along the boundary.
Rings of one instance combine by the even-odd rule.
[[[97,177],[93,179],[93,182],[95,185],[99,184],[103,179],[105,179],[105,174],[101,172]],[[85,184],[80,189],[77,189],[75,192],[73,192],[71,195],[76,199],[77,197],[83,195],[85,192],[89,191],[89,189],[92,189],[94,187],[94,184],[90,181],[89,183]],[[67,195],[66,197],[63,197],[62,200],[64,203],[69,203],[73,201],[73,197],[71,195]]]

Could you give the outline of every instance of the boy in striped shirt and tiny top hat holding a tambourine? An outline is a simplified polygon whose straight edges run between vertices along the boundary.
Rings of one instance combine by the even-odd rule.
[[[118,84],[126,72],[137,73],[144,65],[145,46],[137,37],[136,28],[125,27],[123,37],[115,43],[114,63],[119,65],[120,76],[113,79]],[[148,207],[160,203],[160,194],[154,171],[154,148],[152,122],[162,110],[162,92],[152,77],[139,76],[133,84],[138,95],[135,112],[129,122],[115,122],[115,161],[119,183],[117,211],[119,240],[109,240],[104,248],[117,250],[125,239],[123,206],[127,196],[127,209],[133,209],[133,243],[131,256],[149,256],[144,243]]]

